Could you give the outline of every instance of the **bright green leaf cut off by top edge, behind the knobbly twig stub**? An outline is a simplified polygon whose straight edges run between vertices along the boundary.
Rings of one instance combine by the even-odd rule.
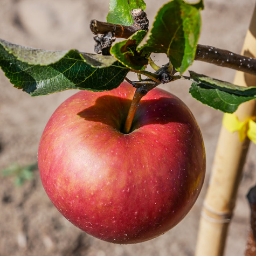
[[[110,0],[107,22],[125,26],[133,25],[130,11],[133,9],[146,9],[143,0]]]

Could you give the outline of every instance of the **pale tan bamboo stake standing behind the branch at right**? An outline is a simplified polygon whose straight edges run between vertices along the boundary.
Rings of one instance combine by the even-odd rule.
[[[256,6],[247,31],[242,54],[256,57]],[[255,86],[256,76],[237,71],[234,84]],[[256,101],[241,105],[236,115],[245,121],[256,112]],[[250,140],[239,141],[238,133],[222,127],[219,134],[209,187],[204,199],[197,238],[196,256],[221,256],[224,254],[227,230],[236,203],[243,165]]]

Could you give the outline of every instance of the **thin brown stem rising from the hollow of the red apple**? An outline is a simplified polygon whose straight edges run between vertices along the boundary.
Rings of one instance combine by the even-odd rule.
[[[139,102],[145,94],[141,93],[139,88],[136,89],[128,115],[126,117],[126,123],[124,124],[123,133],[128,134],[130,128],[132,127],[133,119],[136,113],[137,108],[139,107]]]

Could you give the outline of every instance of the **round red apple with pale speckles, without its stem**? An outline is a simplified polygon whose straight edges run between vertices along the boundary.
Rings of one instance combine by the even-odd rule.
[[[188,107],[155,88],[120,132],[135,89],[80,91],[51,116],[38,165],[44,189],[81,230],[118,244],[170,230],[190,211],[205,176],[202,135]]]

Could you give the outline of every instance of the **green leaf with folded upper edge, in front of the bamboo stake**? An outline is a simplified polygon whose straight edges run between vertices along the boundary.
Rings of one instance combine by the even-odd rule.
[[[225,113],[233,113],[241,103],[256,99],[256,87],[241,87],[191,72],[195,81],[189,89],[193,98]]]

